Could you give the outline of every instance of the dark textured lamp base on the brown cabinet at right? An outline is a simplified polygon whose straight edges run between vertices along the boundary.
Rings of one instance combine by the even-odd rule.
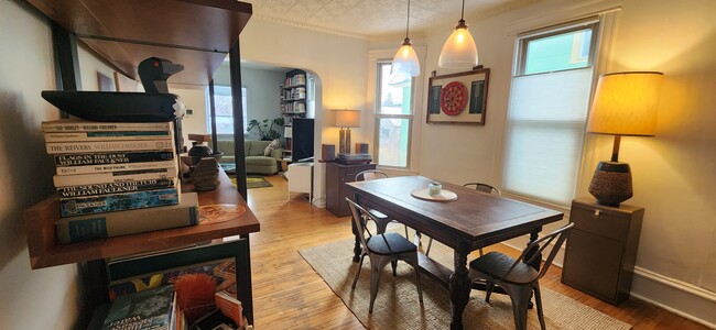
[[[600,162],[592,177],[589,194],[600,205],[619,206],[631,198],[631,169],[627,163]]]

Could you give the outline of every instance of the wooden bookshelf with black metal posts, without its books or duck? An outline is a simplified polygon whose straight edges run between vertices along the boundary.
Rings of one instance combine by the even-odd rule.
[[[184,65],[172,76],[170,87],[207,86],[227,54],[232,70],[234,118],[241,120],[241,75],[239,70],[239,34],[248,23],[252,6],[239,1],[218,0],[29,0],[32,7],[51,22],[56,56],[56,78],[65,90],[79,86],[77,43],[85,44],[106,64],[121,74],[139,80],[137,66],[148,57],[161,57]],[[238,92],[236,91],[238,90]],[[243,134],[234,134],[238,152],[243,152]],[[237,168],[245,168],[237,158]],[[33,270],[78,263],[79,279],[87,295],[82,308],[84,316],[77,328],[88,323],[87,315],[107,302],[107,258],[150,254],[178,249],[228,237],[239,237],[246,243],[246,263],[237,264],[239,299],[249,308],[246,316],[253,322],[251,297],[251,264],[249,234],[260,230],[259,221],[246,204],[246,170],[237,177],[240,190],[220,173],[217,190],[199,194],[199,205],[237,204],[247,208],[238,219],[226,222],[169,229],[155,232],[109,238],[70,244],[57,244],[54,222],[59,216],[58,200],[47,198],[24,212],[28,250]],[[243,183],[243,184],[242,184]],[[183,191],[193,191],[183,185]],[[240,274],[239,274],[240,273]]]

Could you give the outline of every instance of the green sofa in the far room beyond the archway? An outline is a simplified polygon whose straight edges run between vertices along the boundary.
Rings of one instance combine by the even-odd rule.
[[[269,156],[263,155],[263,151],[271,143],[271,141],[243,141],[243,150],[246,154],[246,173],[248,174],[267,174],[273,175],[281,168],[281,157],[283,156],[283,148],[278,147],[271,151]],[[224,153],[220,164],[225,164],[227,173],[228,168],[234,170],[236,156],[234,155],[234,140],[219,140],[217,145],[220,152]]]

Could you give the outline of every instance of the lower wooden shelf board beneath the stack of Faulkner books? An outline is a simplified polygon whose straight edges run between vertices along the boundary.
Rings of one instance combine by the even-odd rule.
[[[47,198],[24,212],[30,265],[33,270],[37,270],[91,260],[129,256],[258,232],[260,230],[258,219],[236,190],[229,177],[224,172],[219,172],[219,178],[221,184],[218,189],[199,193],[199,205],[236,204],[246,207],[247,211],[236,220],[72,244],[57,244],[55,221],[59,219],[59,206],[56,197]],[[182,191],[194,191],[194,187],[182,185]]]

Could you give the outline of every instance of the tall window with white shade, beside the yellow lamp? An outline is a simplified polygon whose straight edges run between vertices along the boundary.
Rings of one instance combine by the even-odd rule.
[[[502,188],[567,206],[594,74],[596,19],[518,36]]]

